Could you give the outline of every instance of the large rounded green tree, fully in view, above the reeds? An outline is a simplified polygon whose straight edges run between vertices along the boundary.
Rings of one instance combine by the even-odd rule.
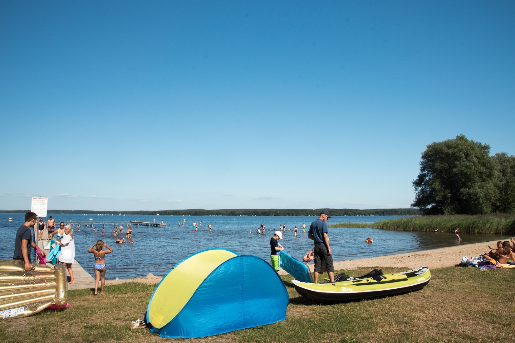
[[[497,168],[489,153],[489,145],[464,135],[427,145],[413,181],[411,206],[423,214],[490,213],[499,192]]]

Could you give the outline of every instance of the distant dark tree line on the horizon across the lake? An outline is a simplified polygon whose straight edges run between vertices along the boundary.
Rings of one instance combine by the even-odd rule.
[[[139,215],[320,215],[318,209],[221,209],[221,210],[162,210],[162,211],[89,211],[89,210],[48,210],[49,214],[139,214]],[[417,208],[378,208],[369,210],[349,208],[327,208],[331,215],[418,215]],[[28,210],[0,211],[1,213],[25,213]]]

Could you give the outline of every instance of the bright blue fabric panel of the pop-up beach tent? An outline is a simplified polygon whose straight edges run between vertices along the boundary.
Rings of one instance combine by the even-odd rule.
[[[270,264],[236,256],[213,270],[177,316],[156,331],[167,338],[197,338],[271,324],[286,319],[288,302]]]

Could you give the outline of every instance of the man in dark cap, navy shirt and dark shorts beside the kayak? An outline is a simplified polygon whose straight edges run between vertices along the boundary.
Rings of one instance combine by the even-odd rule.
[[[334,282],[333,256],[331,255],[331,246],[329,245],[329,237],[327,236],[327,220],[331,215],[327,210],[320,212],[320,216],[316,221],[311,223],[310,231],[307,237],[315,243],[313,255],[315,256],[315,283],[318,283],[318,275],[321,272],[322,259],[327,265],[327,274],[331,282]]]

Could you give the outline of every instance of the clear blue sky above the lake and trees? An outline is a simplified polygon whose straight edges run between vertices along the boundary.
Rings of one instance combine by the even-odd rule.
[[[515,3],[0,3],[0,209],[409,207],[515,154]]]

